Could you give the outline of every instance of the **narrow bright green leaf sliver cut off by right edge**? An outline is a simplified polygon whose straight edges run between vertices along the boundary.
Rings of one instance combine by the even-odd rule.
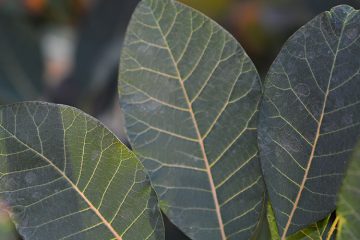
[[[340,218],[338,240],[360,239],[360,144],[357,145],[349,162],[342,184],[337,215]]]

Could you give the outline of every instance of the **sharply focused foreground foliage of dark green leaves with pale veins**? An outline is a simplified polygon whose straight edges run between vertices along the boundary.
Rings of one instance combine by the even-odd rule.
[[[164,239],[159,207],[197,240],[358,239],[358,151],[347,162],[360,135],[359,26],[345,5],[314,18],[262,87],[214,21],[141,1],[119,74],[134,153],[77,109],[2,106],[2,208],[25,239]]]

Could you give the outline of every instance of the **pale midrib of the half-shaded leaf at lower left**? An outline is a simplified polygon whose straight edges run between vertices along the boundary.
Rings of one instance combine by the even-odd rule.
[[[105,219],[105,217],[100,213],[100,211],[91,203],[91,201],[85,196],[85,194],[71,181],[70,178],[66,176],[66,174],[61,171],[49,158],[47,158],[45,155],[41,154],[34,148],[30,147],[28,144],[21,141],[19,138],[17,138],[14,134],[12,134],[10,131],[8,131],[4,126],[0,124],[0,127],[11,137],[13,137],[17,142],[24,145],[26,148],[28,148],[30,151],[35,153],[36,155],[40,156],[43,160],[45,160],[47,163],[49,163],[55,171],[57,171],[69,184],[70,186],[80,195],[80,197],[86,202],[86,204],[89,206],[89,208],[100,218],[100,220],[103,222],[103,224],[108,228],[108,230],[114,235],[116,240],[122,240],[122,237],[117,233],[117,231],[113,228],[111,223]]]

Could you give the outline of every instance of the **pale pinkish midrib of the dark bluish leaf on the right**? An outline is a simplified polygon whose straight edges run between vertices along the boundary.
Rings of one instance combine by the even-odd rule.
[[[324,102],[323,102],[323,106],[322,106],[322,109],[321,109],[320,118],[319,118],[319,121],[318,121],[318,126],[317,126],[317,129],[316,129],[314,143],[312,144],[311,153],[310,153],[310,156],[309,156],[308,164],[306,166],[304,177],[302,179],[298,194],[296,196],[295,202],[294,202],[293,207],[291,209],[288,221],[286,222],[283,234],[281,236],[281,240],[286,240],[286,234],[287,234],[287,232],[289,230],[289,227],[290,227],[290,225],[292,223],[292,219],[294,217],[295,211],[297,210],[297,207],[299,205],[300,198],[301,198],[302,192],[303,192],[303,190],[305,188],[305,183],[307,181],[307,176],[309,174],[311,164],[312,164],[312,161],[314,159],[315,150],[316,150],[319,138],[320,138],[320,132],[321,132],[322,122],[323,122],[323,119],[324,119],[325,108],[326,108],[328,96],[329,96],[329,93],[330,93],[330,83],[331,83],[331,79],[332,79],[332,76],[333,76],[333,73],[334,73],[334,68],[335,68],[336,60],[337,60],[338,53],[339,53],[339,47],[340,47],[341,39],[342,39],[342,36],[344,34],[344,29],[345,29],[345,26],[346,26],[349,15],[350,14],[347,14],[347,16],[346,16],[346,18],[344,20],[344,23],[342,25],[342,28],[341,28],[339,41],[337,43],[336,52],[335,52],[335,56],[334,56],[332,66],[331,66],[331,71],[330,71],[330,75],[329,75],[328,84],[327,84],[327,87],[326,87],[326,92],[325,92],[325,95],[324,95]]]

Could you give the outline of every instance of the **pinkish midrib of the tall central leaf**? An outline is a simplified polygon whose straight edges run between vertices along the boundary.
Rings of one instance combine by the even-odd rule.
[[[184,98],[185,98],[186,104],[188,106],[188,110],[189,110],[189,113],[190,113],[190,116],[191,116],[191,120],[193,122],[194,129],[195,129],[195,132],[196,132],[197,140],[198,140],[198,143],[200,145],[201,154],[202,154],[203,159],[204,159],[205,168],[206,168],[205,170],[206,170],[206,173],[207,173],[208,178],[209,178],[211,193],[212,193],[213,200],[214,200],[214,205],[215,205],[215,212],[216,212],[217,220],[218,220],[218,223],[219,223],[219,230],[220,230],[220,234],[221,234],[221,239],[226,240],[226,234],[225,234],[225,230],[224,230],[224,224],[223,224],[223,220],[222,220],[220,204],[219,204],[219,200],[218,200],[218,196],[217,196],[217,192],[216,192],[216,188],[215,188],[215,183],[214,183],[214,180],[213,180],[209,160],[208,160],[208,157],[207,157],[207,154],[206,154],[204,141],[203,141],[203,138],[201,137],[199,126],[198,126],[198,123],[196,121],[195,114],[194,114],[194,111],[193,111],[193,108],[192,108],[192,103],[191,103],[191,101],[189,99],[189,96],[188,96],[188,94],[186,92],[184,83],[183,83],[182,78],[181,78],[180,70],[179,70],[178,65],[177,65],[177,63],[175,61],[175,58],[174,58],[174,56],[173,56],[173,54],[171,52],[171,49],[170,49],[169,43],[168,43],[168,41],[167,41],[167,39],[165,37],[165,34],[162,31],[162,29],[161,29],[161,27],[159,25],[159,22],[156,19],[154,13],[153,13],[153,10],[151,9],[150,6],[148,6],[148,8],[149,8],[149,10],[151,12],[151,15],[153,16],[153,19],[154,19],[154,21],[155,21],[155,23],[157,25],[157,28],[159,29],[159,33],[161,34],[161,36],[162,36],[162,38],[164,40],[164,43],[166,45],[166,49],[168,50],[171,61],[172,61],[173,65],[174,65],[176,75],[177,75],[177,78],[178,78],[179,83],[180,83],[181,90],[182,90],[182,92],[184,94]]]

